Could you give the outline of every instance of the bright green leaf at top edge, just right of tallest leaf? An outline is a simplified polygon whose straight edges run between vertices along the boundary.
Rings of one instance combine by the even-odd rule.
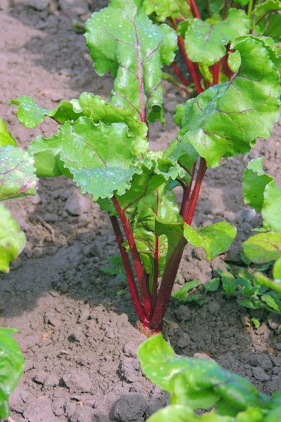
[[[186,0],[145,0],[145,13],[155,16],[158,22],[165,22],[167,18],[187,19],[192,17]]]

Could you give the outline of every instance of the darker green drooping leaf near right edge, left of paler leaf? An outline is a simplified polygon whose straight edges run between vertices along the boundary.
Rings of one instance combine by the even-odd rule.
[[[261,211],[263,206],[263,193],[266,185],[273,181],[273,177],[263,171],[262,162],[263,158],[251,160],[243,174],[244,202],[254,207],[256,212]]]

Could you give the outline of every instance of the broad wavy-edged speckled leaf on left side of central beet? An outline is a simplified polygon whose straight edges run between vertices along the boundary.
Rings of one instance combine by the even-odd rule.
[[[76,122],[65,122],[59,127],[58,136],[36,139],[29,151],[41,177],[65,174],[64,166],[81,192],[98,200],[112,198],[114,192],[124,194],[133,174],[141,174],[141,167],[133,167],[134,154],[141,155],[142,151],[136,151],[135,143],[124,123],[106,126],[79,117]]]

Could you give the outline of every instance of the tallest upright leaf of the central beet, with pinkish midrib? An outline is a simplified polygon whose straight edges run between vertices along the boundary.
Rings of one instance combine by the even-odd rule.
[[[162,65],[174,60],[176,32],[153,25],[143,2],[112,0],[86,23],[86,45],[98,75],[115,77],[110,102],[128,108],[142,122],[162,118]]]

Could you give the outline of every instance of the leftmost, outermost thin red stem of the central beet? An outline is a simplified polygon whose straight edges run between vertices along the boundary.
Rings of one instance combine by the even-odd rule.
[[[110,222],[112,224],[113,231],[115,232],[115,237],[116,237],[119,251],[120,251],[122,261],[124,264],[126,278],[128,280],[131,297],[133,299],[133,305],[135,306],[136,313],[138,314],[138,318],[140,319],[140,321],[144,325],[148,326],[148,320],[145,318],[143,307],[141,306],[141,301],[140,301],[140,298],[138,297],[138,290],[136,288],[135,278],[133,276],[133,271],[131,269],[131,262],[129,260],[129,255],[127,254],[124,246],[122,246],[124,243],[124,238],[122,236],[122,232],[120,230],[117,217],[114,217],[114,216],[110,217]]]

